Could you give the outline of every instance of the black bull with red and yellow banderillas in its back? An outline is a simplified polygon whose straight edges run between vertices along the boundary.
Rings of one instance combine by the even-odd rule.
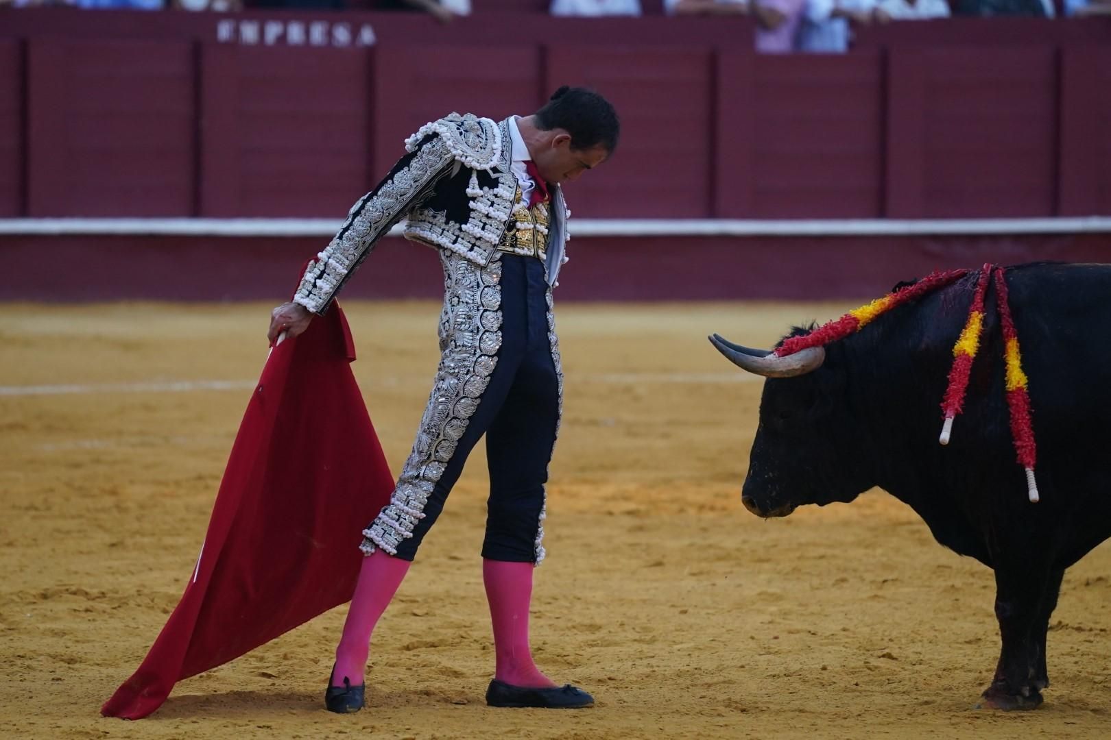
[[[939,543],[994,570],[1002,650],[984,700],[1032,709],[1049,686],[1045,633],[1064,570],[1111,536],[1111,265],[1007,271],[1029,377],[1038,504],[1027,498],[1012,446],[992,291],[963,413],[949,445],[938,443],[952,347],[975,280],[882,314],[785,373],[760,351],[720,337],[714,344],[769,376],[744,506],[785,516],[803,504],[851,501],[873,486],[908,504]]]

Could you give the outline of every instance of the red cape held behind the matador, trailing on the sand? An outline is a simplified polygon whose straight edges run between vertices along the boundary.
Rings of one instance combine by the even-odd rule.
[[[339,305],[273,349],[186,592],[102,714],[146,717],[177,681],[350,600],[361,530],[393,488],[353,359]]]

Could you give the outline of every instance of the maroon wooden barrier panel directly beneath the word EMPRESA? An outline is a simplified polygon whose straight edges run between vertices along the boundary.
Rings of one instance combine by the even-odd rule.
[[[201,215],[346,213],[374,175],[368,54],[206,44]]]

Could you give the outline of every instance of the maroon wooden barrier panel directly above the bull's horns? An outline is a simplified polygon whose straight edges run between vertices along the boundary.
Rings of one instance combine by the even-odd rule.
[[[883,215],[881,61],[721,54],[714,215]]]

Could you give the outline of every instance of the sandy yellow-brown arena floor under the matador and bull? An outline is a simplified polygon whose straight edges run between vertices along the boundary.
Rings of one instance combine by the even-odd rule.
[[[269,307],[4,306],[0,738],[1111,737],[1111,546],[1065,577],[1045,704],[1004,714],[973,708],[999,649],[989,570],[883,493],[775,521],[741,507],[761,385],[705,334],[770,344],[845,304],[560,308],[565,418],[532,631],[541,667],[595,708],[484,706],[480,448],[376,631],[364,711],[322,707],[340,608],[180,683],[149,719],[101,718],[193,567]],[[439,307],[346,307],[397,470]],[[211,381],[231,387],[189,385]]]

